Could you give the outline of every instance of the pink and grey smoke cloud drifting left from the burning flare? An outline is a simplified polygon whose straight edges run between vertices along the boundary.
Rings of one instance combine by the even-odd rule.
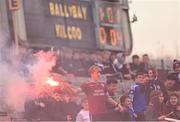
[[[26,48],[17,55],[7,42],[7,36],[0,32],[0,111],[21,112],[27,99],[45,91],[45,81],[56,58],[52,52],[33,54]]]

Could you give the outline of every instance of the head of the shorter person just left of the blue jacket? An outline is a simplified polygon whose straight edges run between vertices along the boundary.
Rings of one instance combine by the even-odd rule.
[[[128,95],[123,95],[120,98],[120,102],[121,102],[121,105],[124,108],[131,108],[132,107],[132,100],[131,100],[131,98]]]

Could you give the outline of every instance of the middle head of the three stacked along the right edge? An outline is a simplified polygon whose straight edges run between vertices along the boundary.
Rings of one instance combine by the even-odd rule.
[[[164,82],[166,89],[171,90],[175,84],[175,81],[176,81],[176,77],[173,74],[168,74]]]

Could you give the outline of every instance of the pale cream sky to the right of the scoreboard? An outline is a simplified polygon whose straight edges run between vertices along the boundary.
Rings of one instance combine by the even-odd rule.
[[[180,58],[180,0],[129,0],[134,47],[132,54]]]

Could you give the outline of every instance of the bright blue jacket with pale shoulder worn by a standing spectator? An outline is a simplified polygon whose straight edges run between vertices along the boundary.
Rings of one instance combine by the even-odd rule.
[[[134,112],[144,114],[146,108],[145,87],[142,84],[134,83],[129,91],[129,96],[133,100]]]

